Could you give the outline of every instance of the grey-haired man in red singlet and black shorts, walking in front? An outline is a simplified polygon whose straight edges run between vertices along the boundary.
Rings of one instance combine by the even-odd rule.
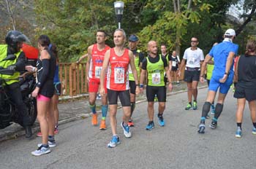
[[[100,94],[105,96],[105,87],[103,84],[105,82],[105,71],[108,68],[107,88],[110,108],[110,125],[113,133],[113,137],[108,144],[108,147],[115,147],[120,143],[116,133],[116,111],[118,97],[121,101],[124,112],[123,122],[121,122],[121,127],[124,130],[124,136],[127,138],[132,136],[132,133],[129,131],[129,126],[127,125],[131,114],[128,78],[129,65],[131,66],[132,74],[135,77],[136,94],[140,93],[138,73],[135,68],[133,53],[132,51],[124,48],[126,34],[123,29],[116,29],[113,36],[113,41],[116,47],[113,47],[106,52],[102,66],[102,73],[100,74]]]

